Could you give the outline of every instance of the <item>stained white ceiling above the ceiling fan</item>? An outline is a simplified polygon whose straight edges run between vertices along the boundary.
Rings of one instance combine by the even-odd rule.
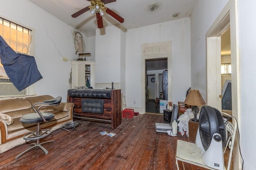
[[[29,0],[53,16],[76,28],[86,36],[94,36],[97,27],[96,17],[90,11],[72,18],[71,15],[89,6],[87,0]],[[142,27],[156,23],[176,20],[191,15],[195,0],[116,0],[105,6],[113,10],[122,18],[121,25],[125,29]],[[158,5],[154,11],[150,7]],[[151,8],[152,9],[152,8]],[[177,17],[173,15],[178,14]],[[103,18],[104,27],[116,25],[119,22],[105,13]],[[104,28],[102,28],[104,29]]]

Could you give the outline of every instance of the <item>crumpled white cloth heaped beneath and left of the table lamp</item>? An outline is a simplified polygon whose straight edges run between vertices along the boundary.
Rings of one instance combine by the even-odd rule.
[[[199,114],[197,115],[199,117]],[[188,121],[189,119],[194,118],[194,114],[192,112],[192,109],[188,108],[184,112],[184,114],[180,115],[178,118],[178,131],[181,133],[181,135],[184,135],[184,131],[186,131],[186,135],[189,135],[188,133]]]

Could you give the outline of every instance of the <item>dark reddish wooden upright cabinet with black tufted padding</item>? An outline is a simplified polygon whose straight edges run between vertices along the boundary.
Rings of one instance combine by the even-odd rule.
[[[69,89],[68,102],[74,103],[73,117],[110,123],[116,129],[122,121],[121,90]]]

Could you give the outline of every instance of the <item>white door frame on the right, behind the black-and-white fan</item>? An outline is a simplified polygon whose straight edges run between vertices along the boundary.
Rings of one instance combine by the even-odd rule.
[[[232,67],[232,116],[238,120],[240,127],[240,63],[239,63],[239,44],[238,44],[238,4],[237,0],[229,0],[219,16],[216,18],[212,26],[206,33],[206,105],[216,106],[221,111],[221,81],[216,76],[221,74],[213,73],[211,70],[216,69],[216,64],[212,64],[212,57],[215,57],[215,63],[220,60],[221,48],[220,36],[230,27],[230,51],[231,51],[231,67]],[[216,52],[213,55],[211,52]],[[216,82],[211,82],[216,78]],[[215,88],[212,88],[216,83]],[[237,138],[238,139],[238,138]],[[242,168],[242,158],[239,156],[238,140],[234,145],[234,169]]]

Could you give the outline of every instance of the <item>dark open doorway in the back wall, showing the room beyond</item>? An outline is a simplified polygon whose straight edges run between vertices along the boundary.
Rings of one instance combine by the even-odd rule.
[[[146,113],[160,113],[163,99],[163,72],[168,69],[167,58],[147,59],[146,65]]]

